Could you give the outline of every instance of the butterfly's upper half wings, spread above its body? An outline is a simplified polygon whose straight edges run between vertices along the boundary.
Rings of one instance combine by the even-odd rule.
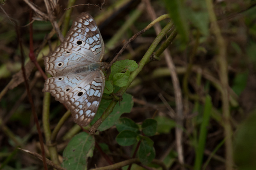
[[[78,67],[102,60],[104,42],[93,17],[81,13],[73,22],[64,41],[44,57],[45,70],[52,76],[74,71]]]

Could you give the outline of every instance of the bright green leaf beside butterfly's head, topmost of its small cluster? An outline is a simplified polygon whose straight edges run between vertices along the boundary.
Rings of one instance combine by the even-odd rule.
[[[111,73],[124,73],[126,71],[132,72],[138,68],[138,64],[133,60],[121,60],[117,61],[111,66]]]

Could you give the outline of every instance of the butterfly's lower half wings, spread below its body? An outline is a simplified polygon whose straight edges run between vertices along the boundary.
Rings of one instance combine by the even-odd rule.
[[[57,101],[65,103],[74,122],[86,126],[93,119],[105,87],[102,71],[90,71],[83,75],[67,75],[48,78],[44,92],[50,92]]]

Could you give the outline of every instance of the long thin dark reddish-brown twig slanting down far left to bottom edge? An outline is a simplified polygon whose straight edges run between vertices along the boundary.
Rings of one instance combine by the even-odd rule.
[[[15,24],[15,28],[16,28],[16,33],[17,33],[17,37],[18,37],[18,42],[19,42],[19,45],[20,45],[22,73],[23,73],[23,78],[24,78],[24,83],[25,83],[25,86],[26,86],[26,90],[27,90],[27,96],[28,96],[29,102],[31,104],[31,110],[32,110],[32,113],[33,113],[33,116],[34,116],[35,124],[37,125],[37,131],[38,131],[39,141],[40,141],[41,150],[42,150],[42,159],[43,159],[43,163],[44,163],[44,169],[48,170],[47,164],[46,164],[46,158],[45,158],[44,140],[43,140],[43,136],[42,136],[42,133],[41,133],[40,126],[39,126],[37,114],[35,113],[35,105],[34,105],[34,102],[33,102],[33,98],[30,94],[29,83],[27,82],[27,78],[26,78],[26,70],[25,70],[25,67],[24,67],[25,57],[24,57],[24,54],[23,54],[22,41],[21,41],[20,32],[19,32],[19,28],[18,28],[17,24]]]

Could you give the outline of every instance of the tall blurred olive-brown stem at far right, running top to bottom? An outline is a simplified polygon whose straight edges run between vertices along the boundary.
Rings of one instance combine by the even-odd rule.
[[[211,0],[206,1],[209,18],[212,23],[212,31],[215,34],[217,45],[219,48],[218,64],[219,64],[219,77],[222,86],[222,112],[223,112],[223,123],[224,133],[226,137],[225,141],[225,152],[226,152],[226,170],[233,170],[233,143],[232,143],[232,128],[230,124],[230,111],[229,111],[229,84],[228,84],[228,72],[227,72],[227,60],[226,60],[226,44],[225,40],[221,35],[217,19],[214,13],[214,7]]]

